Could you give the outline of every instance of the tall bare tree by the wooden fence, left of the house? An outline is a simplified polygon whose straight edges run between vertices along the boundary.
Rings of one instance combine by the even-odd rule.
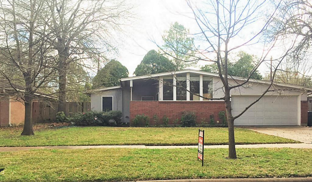
[[[129,18],[131,6],[124,1],[48,0],[45,4],[51,19],[46,25],[53,32],[53,48],[58,54],[58,111],[65,110],[66,84],[70,64],[92,68],[92,59],[105,59],[114,51],[113,37]],[[50,17],[48,16],[48,17]]]

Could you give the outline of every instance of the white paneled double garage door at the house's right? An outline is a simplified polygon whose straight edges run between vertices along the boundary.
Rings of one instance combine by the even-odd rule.
[[[236,116],[259,96],[232,95],[232,114]],[[234,121],[235,126],[298,125],[298,96],[264,96]]]

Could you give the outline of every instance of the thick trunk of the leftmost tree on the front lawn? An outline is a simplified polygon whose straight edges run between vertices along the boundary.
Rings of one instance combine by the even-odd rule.
[[[32,130],[32,97],[25,96],[25,121],[21,135],[34,135]]]

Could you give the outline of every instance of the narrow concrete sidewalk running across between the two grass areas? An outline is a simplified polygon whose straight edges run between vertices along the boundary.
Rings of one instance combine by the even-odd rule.
[[[172,149],[197,148],[192,146],[145,146],[145,145],[96,145],[96,146],[47,146],[47,147],[0,147],[0,152],[25,151],[34,149],[90,149],[90,148],[141,148],[141,149]],[[205,148],[228,148],[228,145],[205,145]],[[310,143],[282,143],[282,144],[248,144],[236,145],[236,148],[310,148]]]

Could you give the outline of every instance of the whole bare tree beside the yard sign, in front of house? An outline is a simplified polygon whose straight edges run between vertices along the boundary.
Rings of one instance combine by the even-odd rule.
[[[256,72],[262,63],[269,60],[268,55],[275,47],[275,44],[280,41],[278,35],[271,40],[262,40],[268,26],[272,23],[275,16],[278,15],[278,5],[272,9],[270,16],[263,22],[263,12],[267,10],[267,2],[264,1],[247,1],[241,2],[239,0],[224,1],[224,0],[210,0],[207,3],[198,3],[196,6],[191,1],[187,0],[187,4],[192,11],[192,19],[196,22],[199,32],[194,33],[198,42],[201,42],[205,47],[202,49],[196,46],[189,47],[188,49],[195,52],[193,59],[188,61],[206,61],[217,64],[218,75],[221,79],[223,87],[220,88],[224,92],[221,98],[205,98],[208,100],[224,100],[225,110],[227,115],[228,124],[228,138],[229,138],[229,158],[236,158],[235,138],[234,138],[234,120],[244,114],[252,105],[258,102],[268,91],[273,84],[275,72],[287,54],[290,53],[294,44],[295,38],[290,40],[290,44],[285,46],[285,51],[282,51],[280,56],[274,58],[276,63],[275,70],[273,70],[273,79],[268,84],[267,89],[257,98],[250,103],[241,113],[236,116],[232,115],[231,106],[231,91],[239,89],[240,87],[252,81],[251,76]],[[261,22],[260,22],[261,18]],[[259,27],[259,25],[262,25]],[[255,27],[259,27],[255,29]],[[279,28],[279,27],[276,27]],[[253,31],[253,32],[252,32]],[[255,32],[256,31],[256,32]],[[243,41],[241,37],[244,35]],[[182,43],[180,43],[182,45]],[[256,60],[254,68],[250,71],[249,75],[242,81],[236,80],[228,74],[229,56],[232,52],[240,51],[245,46],[259,44],[262,46],[261,56]],[[201,46],[202,46],[201,45]],[[158,46],[160,49],[161,46]],[[165,54],[170,56],[170,53],[162,49]],[[182,53],[181,54],[187,54]],[[192,56],[187,54],[188,56]],[[177,59],[177,58],[176,58]],[[183,61],[183,60],[181,60]],[[185,88],[186,89],[186,88]],[[187,90],[188,92],[192,92]],[[192,93],[194,94],[194,93]],[[196,95],[196,94],[195,94]],[[198,95],[199,96],[199,95]],[[202,97],[202,96],[200,96]]]

